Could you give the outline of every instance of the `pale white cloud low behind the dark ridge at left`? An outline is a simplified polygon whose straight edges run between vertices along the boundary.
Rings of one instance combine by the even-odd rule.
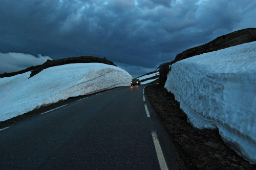
[[[26,69],[31,66],[41,65],[48,59],[52,60],[49,56],[41,56],[38,54],[37,57],[31,54],[24,53],[0,53],[0,74],[10,73]]]

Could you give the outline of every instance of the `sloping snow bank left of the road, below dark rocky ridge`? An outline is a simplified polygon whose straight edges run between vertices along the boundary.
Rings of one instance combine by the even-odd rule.
[[[103,63],[73,63],[0,78],[0,121],[69,97],[130,86],[132,76]]]

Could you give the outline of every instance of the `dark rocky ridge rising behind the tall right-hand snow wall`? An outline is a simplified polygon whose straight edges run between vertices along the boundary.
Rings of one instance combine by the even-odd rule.
[[[172,62],[168,62],[164,66],[162,66],[162,68],[159,70],[159,84],[161,86],[164,86],[168,72],[172,68],[173,63],[177,61],[252,41],[256,41],[256,28],[247,28],[239,31],[234,31],[229,34],[219,36],[204,45],[185,50],[182,53],[177,54]]]

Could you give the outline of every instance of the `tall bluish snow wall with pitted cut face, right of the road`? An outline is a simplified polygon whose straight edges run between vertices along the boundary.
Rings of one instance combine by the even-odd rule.
[[[234,151],[256,164],[256,41],[174,63],[165,88],[188,122],[218,128]]]

